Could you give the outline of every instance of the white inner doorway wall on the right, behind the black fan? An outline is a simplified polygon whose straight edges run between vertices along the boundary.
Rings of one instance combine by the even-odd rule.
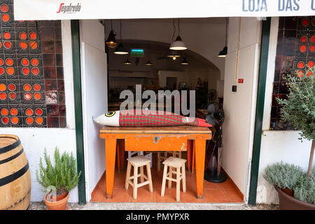
[[[250,176],[255,100],[257,94],[261,22],[256,18],[241,18],[241,36],[237,78],[244,83],[235,85],[235,56],[239,18],[230,18],[228,55],[225,58],[223,123],[223,169],[235,182],[247,201]]]

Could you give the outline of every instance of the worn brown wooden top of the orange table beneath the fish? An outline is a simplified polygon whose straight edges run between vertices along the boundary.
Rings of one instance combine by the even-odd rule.
[[[111,127],[104,126],[100,133],[171,133],[171,134],[211,134],[208,127],[172,126],[172,127]]]

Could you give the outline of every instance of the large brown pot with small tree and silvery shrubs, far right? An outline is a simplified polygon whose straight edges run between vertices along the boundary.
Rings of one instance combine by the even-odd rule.
[[[289,88],[288,98],[277,99],[279,105],[282,106],[281,119],[292,123],[297,130],[300,130],[299,139],[301,141],[302,139],[311,141],[307,174],[301,174],[299,167],[287,164],[283,165],[283,163],[272,165],[266,169],[264,177],[276,188],[279,194],[280,209],[315,210],[315,175],[312,174],[311,170],[315,146],[314,73],[315,66],[309,67],[306,72],[307,75],[297,72],[297,76],[286,76],[286,84]],[[286,182],[288,181],[288,177],[290,178],[290,184]]]

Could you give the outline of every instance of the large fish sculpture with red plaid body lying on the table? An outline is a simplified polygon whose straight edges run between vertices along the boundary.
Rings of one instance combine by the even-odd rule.
[[[95,123],[116,127],[162,127],[162,126],[199,126],[212,127],[206,120],[200,118],[188,118],[167,111],[151,110],[125,110],[110,111],[93,118]]]

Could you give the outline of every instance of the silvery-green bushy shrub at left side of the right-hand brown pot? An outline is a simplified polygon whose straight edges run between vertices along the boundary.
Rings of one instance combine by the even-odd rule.
[[[276,162],[266,167],[263,177],[273,186],[293,190],[302,175],[302,167]]]

